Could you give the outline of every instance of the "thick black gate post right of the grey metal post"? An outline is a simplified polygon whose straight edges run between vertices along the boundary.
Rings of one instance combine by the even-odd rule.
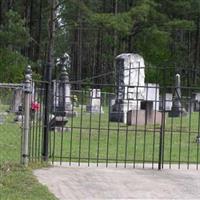
[[[44,83],[44,133],[43,133],[43,149],[42,157],[44,161],[48,161],[48,142],[49,142],[49,113],[51,99],[51,71],[50,63],[46,65],[45,83]]]

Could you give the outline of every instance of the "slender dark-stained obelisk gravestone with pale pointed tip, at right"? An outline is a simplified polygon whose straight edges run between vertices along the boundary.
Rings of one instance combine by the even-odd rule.
[[[180,117],[187,115],[185,108],[181,103],[181,80],[180,75],[176,74],[176,86],[174,91],[174,98],[172,101],[172,109],[169,112],[169,117]]]

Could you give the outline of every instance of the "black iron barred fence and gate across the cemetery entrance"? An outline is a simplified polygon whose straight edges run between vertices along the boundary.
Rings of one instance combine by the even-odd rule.
[[[158,70],[160,81],[147,83],[141,69],[129,69],[128,81],[86,84],[70,82],[62,68],[60,78],[45,82],[50,94],[35,82],[30,160],[198,169],[200,87],[181,73],[168,77],[166,67]]]

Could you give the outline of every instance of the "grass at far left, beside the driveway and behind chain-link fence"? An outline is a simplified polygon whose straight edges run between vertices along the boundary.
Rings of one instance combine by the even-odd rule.
[[[1,112],[5,112],[4,108],[5,106],[1,106]],[[32,169],[41,165],[24,168],[19,164],[20,124],[13,123],[12,114],[5,115],[4,118],[4,123],[0,125],[0,199],[56,199],[32,174]]]

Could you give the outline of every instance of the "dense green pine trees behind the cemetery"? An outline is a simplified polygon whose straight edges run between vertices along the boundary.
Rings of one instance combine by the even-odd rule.
[[[52,31],[49,2],[54,3],[56,17],[53,56],[70,55],[71,80],[88,81],[108,73],[95,81],[112,83],[115,56],[134,52],[156,69],[189,69],[191,84],[198,81],[199,0],[2,0],[0,70],[6,69],[10,78],[0,77],[0,81],[18,80],[27,59],[41,73],[37,63],[47,60]],[[154,72],[152,68],[146,73],[147,81],[159,82]],[[12,73],[17,74],[16,79]]]

